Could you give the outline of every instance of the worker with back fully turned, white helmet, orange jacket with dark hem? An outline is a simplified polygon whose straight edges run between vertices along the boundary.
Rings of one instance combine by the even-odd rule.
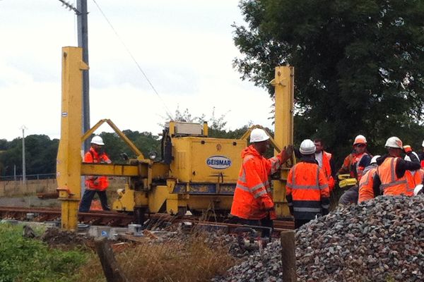
[[[315,159],[315,150],[312,140],[303,140],[300,144],[302,159],[288,173],[285,199],[290,214],[295,217],[295,228],[329,212],[329,184]]]

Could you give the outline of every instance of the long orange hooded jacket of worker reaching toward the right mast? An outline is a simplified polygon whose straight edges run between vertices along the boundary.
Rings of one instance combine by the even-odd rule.
[[[241,219],[276,219],[269,185],[269,174],[281,165],[281,157],[265,159],[251,145],[242,151],[243,164],[235,186],[231,214]]]

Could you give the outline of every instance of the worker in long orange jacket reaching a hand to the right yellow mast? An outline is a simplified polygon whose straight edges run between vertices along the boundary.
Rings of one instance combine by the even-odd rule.
[[[249,147],[242,151],[242,167],[232,199],[231,214],[238,223],[273,228],[276,219],[272,200],[269,175],[275,173],[293,154],[293,147],[271,159],[263,156],[269,148],[269,135],[261,128],[250,133]],[[262,232],[269,236],[269,229]]]

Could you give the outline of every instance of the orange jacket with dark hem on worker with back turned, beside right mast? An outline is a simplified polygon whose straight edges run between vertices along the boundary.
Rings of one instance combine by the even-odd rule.
[[[285,195],[295,219],[314,219],[329,209],[329,185],[317,164],[300,162],[288,173]]]

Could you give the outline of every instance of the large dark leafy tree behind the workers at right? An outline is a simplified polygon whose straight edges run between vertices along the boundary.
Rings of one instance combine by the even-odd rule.
[[[297,142],[319,136],[338,153],[357,134],[379,148],[391,135],[420,143],[411,133],[424,136],[423,1],[243,0],[240,8],[247,26],[234,25],[242,54],[234,66],[271,96],[274,67],[295,66]]]

